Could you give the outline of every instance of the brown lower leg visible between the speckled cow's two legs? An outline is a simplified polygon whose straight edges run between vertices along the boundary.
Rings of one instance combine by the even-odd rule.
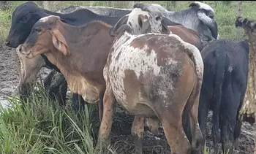
[[[135,116],[132,123],[132,137],[135,142],[135,154],[142,154],[142,139],[144,132],[144,118]]]

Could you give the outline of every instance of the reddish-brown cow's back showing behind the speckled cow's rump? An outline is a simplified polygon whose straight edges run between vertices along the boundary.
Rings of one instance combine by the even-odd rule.
[[[184,40],[184,42],[188,42],[191,45],[195,45],[195,47],[197,47],[199,51],[203,50],[203,43],[196,31],[190,28],[186,28],[182,25],[167,27],[173,34],[180,36],[181,39]]]

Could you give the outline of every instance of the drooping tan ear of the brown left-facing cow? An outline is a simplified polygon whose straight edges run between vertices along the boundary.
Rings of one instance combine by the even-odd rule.
[[[67,45],[66,39],[61,34],[61,32],[58,29],[53,29],[50,31],[50,34],[52,34],[53,36],[54,47],[56,47],[56,49],[61,51],[61,53],[63,53],[64,55],[69,56],[70,55],[69,47]]]

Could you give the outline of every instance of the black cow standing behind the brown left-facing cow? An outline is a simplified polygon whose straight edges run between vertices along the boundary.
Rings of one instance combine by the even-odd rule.
[[[69,14],[60,14],[56,12],[50,12],[46,9],[42,9],[37,6],[34,2],[26,2],[18,6],[12,13],[12,26],[10,28],[9,34],[7,36],[6,45],[9,47],[18,47],[18,45],[23,44],[26,38],[31,32],[32,26],[40,18],[48,15],[58,15],[64,23],[68,23],[72,26],[80,26],[89,23],[92,20],[102,20],[105,23],[114,25],[121,17],[108,17],[103,15],[97,15],[91,12],[89,9],[78,9]],[[50,67],[59,72],[59,69],[54,66],[48,59],[42,55],[45,59],[45,63]],[[66,81],[64,81],[66,82]],[[67,86],[67,83],[60,86]],[[23,88],[20,88],[23,90]],[[56,88],[54,88],[56,89]],[[57,88],[58,89],[58,88]],[[61,87],[61,89],[65,89]],[[67,88],[66,88],[67,89]],[[56,94],[58,96],[58,94]],[[64,96],[65,98],[66,96]],[[73,95],[73,107],[78,106],[78,99],[83,100],[81,97],[78,98],[78,94]],[[62,103],[61,103],[62,104]],[[82,102],[84,104],[84,101]]]

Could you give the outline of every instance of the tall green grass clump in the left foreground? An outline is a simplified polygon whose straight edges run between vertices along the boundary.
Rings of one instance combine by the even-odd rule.
[[[95,153],[99,123],[94,105],[86,105],[84,112],[73,112],[70,105],[61,109],[41,91],[24,110],[13,98],[0,114],[0,153]]]

